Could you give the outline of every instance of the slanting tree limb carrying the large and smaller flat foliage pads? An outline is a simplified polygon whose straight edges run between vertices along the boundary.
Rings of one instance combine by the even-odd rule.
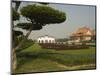
[[[44,5],[27,5],[23,7],[20,12],[20,14],[24,16],[28,22],[18,23],[17,27],[26,29],[28,32],[23,40],[14,48],[15,51],[21,47],[32,30],[40,30],[45,25],[62,23],[66,20],[64,12]]]

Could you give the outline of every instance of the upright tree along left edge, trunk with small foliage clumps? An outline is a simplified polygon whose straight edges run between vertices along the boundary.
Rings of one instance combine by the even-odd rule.
[[[19,20],[20,18],[20,14],[17,12],[19,5],[20,5],[20,1],[13,1],[15,2],[15,8],[12,8],[12,27],[14,28],[14,21]],[[22,35],[23,33],[20,31],[15,31],[14,29],[12,29],[12,70],[14,71],[16,69],[16,65],[17,65],[17,57],[16,57],[16,50],[15,50],[15,46],[18,44],[18,39],[17,36]]]

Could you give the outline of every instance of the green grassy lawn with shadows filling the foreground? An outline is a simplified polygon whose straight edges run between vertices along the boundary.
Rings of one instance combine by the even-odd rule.
[[[17,53],[16,73],[95,69],[95,47],[78,50],[42,49],[38,44]]]

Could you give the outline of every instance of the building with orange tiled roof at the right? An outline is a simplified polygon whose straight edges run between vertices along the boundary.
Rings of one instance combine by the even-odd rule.
[[[79,28],[76,32],[70,36],[75,41],[91,41],[95,39],[95,30],[91,30],[87,27]]]

